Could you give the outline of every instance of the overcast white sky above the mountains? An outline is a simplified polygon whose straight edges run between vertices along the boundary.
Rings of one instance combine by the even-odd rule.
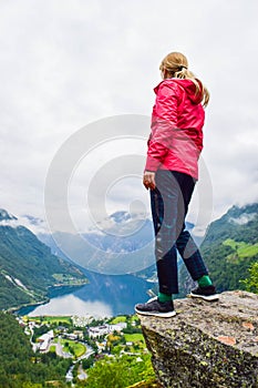
[[[105,126],[109,116],[135,115],[136,123],[137,115],[149,116],[158,65],[171,51],[185,53],[210,91],[200,185],[208,176],[211,218],[256,201],[257,14],[257,0],[1,0],[0,207],[44,217],[45,180],[62,144],[89,124],[94,143],[91,123],[102,120]],[[142,141],[132,135],[137,144],[126,143],[130,129],[123,127],[125,145],[96,142],[94,153],[74,166],[74,218],[89,216],[90,176],[115,157],[144,157],[148,130],[138,131]],[[107,214],[135,200],[148,207],[138,166],[138,176],[111,182]]]

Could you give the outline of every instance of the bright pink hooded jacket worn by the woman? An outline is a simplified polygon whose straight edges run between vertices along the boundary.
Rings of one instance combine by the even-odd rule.
[[[196,94],[192,80],[175,78],[162,81],[154,91],[145,170],[173,170],[198,178],[205,119],[202,93]]]

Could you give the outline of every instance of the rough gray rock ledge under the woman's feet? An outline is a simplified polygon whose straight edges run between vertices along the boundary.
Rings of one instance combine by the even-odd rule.
[[[140,316],[164,388],[258,388],[258,295],[176,299],[175,309],[173,318]]]

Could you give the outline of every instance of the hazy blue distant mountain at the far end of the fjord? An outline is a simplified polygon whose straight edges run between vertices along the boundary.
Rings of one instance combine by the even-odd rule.
[[[194,225],[187,223],[187,227],[190,229]],[[52,253],[96,273],[140,273],[140,277],[146,278],[146,268],[151,267],[151,273],[155,270],[153,223],[145,214],[120,211],[104,218],[97,228],[81,235],[56,232],[38,237]]]

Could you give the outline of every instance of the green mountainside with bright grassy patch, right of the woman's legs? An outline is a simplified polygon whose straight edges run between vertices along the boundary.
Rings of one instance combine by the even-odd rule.
[[[205,263],[219,292],[244,288],[240,280],[248,277],[248,268],[258,261],[258,203],[233,206],[213,222],[200,245]],[[183,293],[193,285],[183,266]]]

